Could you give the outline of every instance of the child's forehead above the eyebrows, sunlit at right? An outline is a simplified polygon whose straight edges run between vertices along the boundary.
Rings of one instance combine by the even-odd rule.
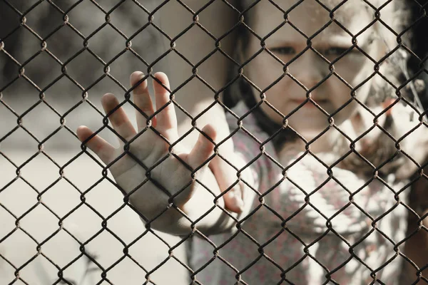
[[[335,9],[342,1],[340,0],[321,0],[320,3],[323,4],[328,9]],[[302,38],[300,33],[293,28],[292,26],[297,27],[302,33],[305,33],[306,36],[312,36],[314,33],[317,33],[323,26],[330,23],[332,19],[330,18],[330,11],[325,9],[320,3],[317,3],[315,0],[305,0],[300,4],[297,4],[295,0],[282,0],[275,1],[275,4],[284,11],[289,11],[288,20],[290,24],[285,24],[277,32],[275,32],[271,37],[273,39],[277,38]],[[295,7],[294,7],[295,6]],[[264,37],[272,30],[280,26],[284,21],[284,13],[278,9],[275,5],[270,3],[270,1],[260,1],[252,9],[250,9],[250,26],[253,30],[258,33],[259,36]],[[314,41],[322,41],[323,38],[331,39],[333,37],[342,37],[348,38],[349,43],[351,43],[352,36],[350,33],[357,34],[360,33],[370,22],[374,19],[374,10],[367,6],[362,0],[349,0],[345,4],[339,6],[334,12],[334,19],[340,23],[344,28],[339,24],[332,22],[324,30],[317,34],[314,38]],[[372,27],[367,29],[367,32],[363,33],[368,34],[372,32]]]

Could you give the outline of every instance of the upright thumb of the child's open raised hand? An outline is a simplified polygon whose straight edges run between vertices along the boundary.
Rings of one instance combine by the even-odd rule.
[[[216,132],[211,125],[205,125],[202,131],[208,135],[211,140],[215,140]],[[200,165],[203,165],[203,163],[208,160],[211,155],[213,155],[213,150],[214,144],[205,138],[202,133],[200,133],[193,150],[191,150],[188,155],[188,165],[190,165],[190,167],[193,169],[200,167]]]

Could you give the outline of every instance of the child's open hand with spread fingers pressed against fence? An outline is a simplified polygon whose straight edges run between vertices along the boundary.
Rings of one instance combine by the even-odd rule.
[[[165,74],[156,73],[155,76],[169,89],[168,78]],[[133,73],[131,75],[131,85],[136,85],[142,78],[142,73]],[[156,105],[161,106],[161,108],[164,105],[167,106],[151,120],[152,126],[161,133],[166,140],[171,143],[175,142],[175,140],[178,140],[177,120],[173,104],[170,103],[168,105],[170,93],[160,84],[156,83],[156,81],[153,82],[153,86]],[[147,81],[143,81],[143,83],[133,90],[133,98],[134,103],[146,113],[146,115],[153,115],[153,104],[148,93]],[[105,112],[109,114],[108,118],[114,130],[127,142],[131,141],[129,153],[123,155],[124,143],[122,141],[121,147],[117,149],[98,135],[86,142],[86,140],[93,135],[93,132],[84,126],[78,128],[78,138],[82,142],[86,142],[86,145],[93,150],[106,165],[109,165],[116,160],[117,157],[123,155],[123,157],[109,167],[109,170],[116,180],[116,183],[126,194],[132,193],[130,195],[130,202],[133,207],[138,209],[148,221],[151,221],[151,219],[156,218],[168,207],[169,196],[147,179],[146,169],[134,160],[133,157],[142,162],[144,166],[152,167],[160,160],[163,160],[165,155],[168,155],[169,145],[150,128],[136,137],[137,132],[131,125],[123,108],[118,108],[111,113],[119,104],[114,95],[104,95],[102,104]],[[146,129],[147,119],[138,111],[136,111],[136,115],[138,132],[141,132]],[[206,125],[203,128],[203,132],[208,135],[208,137],[215,139],[216,133],[212,125]],[[198,169],[200,165],[205,165],[196,172],[195,177],[213,192],[215,196],[218,196],[220,195],[220,187],[218,186],[213,172],[207,167],[208,158],[213,155],[213,149],[214,144],[201,134],[192,149],[180,149],[179,145],[177,145],[173,148],[173,151],[175,155],[178,155],[178,157],[193,170]],[[213,201],[215,197],[198,182],[191,183],[192,179],[190,173],[190,170],[188,170],[182,162],[173,155],[170,155],[150,171],[150,177],[152,180],[162,185],[170,195],[176,195],[185,187],[185,190],[180,192],[180,194],[173,199],[173,203],[185,212],[192,221],[195,221],[203,216],[205,212],[208,212],[208,209],[214,206]],[[221,179],[221,177],[218,177],[218,179]],[[134,189],[138,190],[133,192]],[[218,199],[218,204],[220,207],[224,207],[223,198]],[[230,229],[233,224],[234,221],[228,214],[225,214],[225,212],[218,207],[214,207],[213,211],[200,220],[196,227],[205,234],[212,234]],[[151,222],[151,227],[153,229],[158,229],[170,234],[188,234],[190,232],[190,225],[191,222],[173,207]]]

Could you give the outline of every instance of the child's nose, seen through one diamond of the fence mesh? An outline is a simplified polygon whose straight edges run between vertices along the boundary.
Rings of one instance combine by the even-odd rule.
[[[328,64],[310,49],[290,64],[291,75],[309,90],[317,86],[329,72]]]

